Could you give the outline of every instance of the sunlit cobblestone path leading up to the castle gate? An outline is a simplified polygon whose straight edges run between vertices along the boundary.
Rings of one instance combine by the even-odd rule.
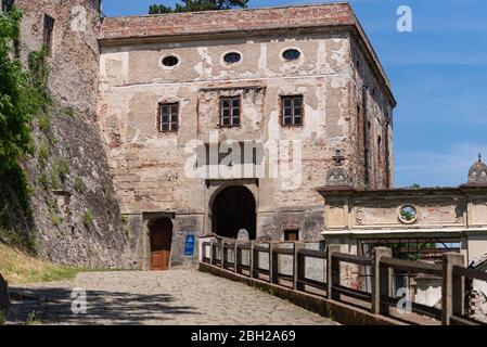
[[[73,288],[87,292],[86,314],[73,313]],[[12,292],[10,324],[335,324],[267,293],[196,270],[87,272],[71,282]]]

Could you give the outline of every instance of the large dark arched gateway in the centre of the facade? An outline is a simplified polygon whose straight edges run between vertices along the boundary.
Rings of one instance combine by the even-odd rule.
[[[245,187],[229,187],[218,193],[213,203],[213,231],[229,239],[236,239],[239,231],[248,231],[251,240],[256,239],[256,203]]]

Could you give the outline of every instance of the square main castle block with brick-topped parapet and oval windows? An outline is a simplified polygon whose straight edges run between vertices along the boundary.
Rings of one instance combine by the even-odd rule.
[[[353,187],[393,187],[396,102],[348,4],[103,18],[99,43],[98,116],[142,268],[184,264],[188,234],[321,239],[334,156]]]

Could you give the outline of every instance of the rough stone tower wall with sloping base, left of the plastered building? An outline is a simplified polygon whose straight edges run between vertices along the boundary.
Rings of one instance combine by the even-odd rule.
[[[52,106],[34,124],[36,154],[25,160],[33,224],[43,258],[89,267],[130,267],[128,236],[97,120],[98,0],[20,0],[22,59],[42,47],[44,15],[54,20],[48,93]]]

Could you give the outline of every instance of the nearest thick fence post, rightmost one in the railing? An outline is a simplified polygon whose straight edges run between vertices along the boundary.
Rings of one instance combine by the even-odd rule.
[[[453,267],[463,267],[464,257],[460,253],[443,256],[441,323],[451,324],[451,316],[463,316],[465,287],[462,277],[453,277]]]

